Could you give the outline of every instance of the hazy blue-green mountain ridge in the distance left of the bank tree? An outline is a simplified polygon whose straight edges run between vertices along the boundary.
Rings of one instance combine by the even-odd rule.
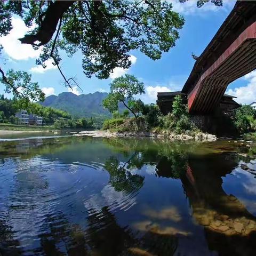
[[[108,93],[106,92],[80,95],[72,92],[62,92],[58,96],[50,95],[45,98],[44,102],[39,103],[45,107],[65,110],[73,117],[110,116],[109,111],[102,106],[102,100],[107,95]]]

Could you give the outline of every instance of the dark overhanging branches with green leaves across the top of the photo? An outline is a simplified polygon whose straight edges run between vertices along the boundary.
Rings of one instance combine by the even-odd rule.
[[[197,6],[205,2],[198,1]],[[81,51],[84,74],[108,78],[114,68],[131,66],[131,50],[137,49],[153,60],[161,58],[162,52],[175,45],[184,24],[170,1],[1,1],[0,36],[10,33],[12,15],[19,15],[31,28],[20,42],[35,49],[43,47],[36,63],[45,67],[45,61],[52,60],[70,87],[76,81],[66,78],[61,70],[60,50],[69,57]],[[2,82],[15,93],[15,81],[10,82],[1,67],[0,72]],[[38,98],[38,94],[32,96]]]

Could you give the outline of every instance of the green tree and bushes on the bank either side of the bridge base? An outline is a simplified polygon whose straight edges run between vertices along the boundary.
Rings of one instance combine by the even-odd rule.
[[[143,83],[132,75],[114,79],[110,84],[108,97],[103,100],[103,106],[113,116],[103,122],[102,129],[119,133],[185,134],[188,138],[202,134],[180,95],[174,98],[172,112],[164,116],[156,104],[145,104],[134,98],[135,95],[142,93],[145,93]],[[121,114],[118,111],[119,102],[127,108]],[[131,114],[133,117],[130,117]],[[221,115],[222,124],[227,123],[230,131],[235,131],[236,135],[256,131],[256,110],[250,106],[241,106],[231,115]]]

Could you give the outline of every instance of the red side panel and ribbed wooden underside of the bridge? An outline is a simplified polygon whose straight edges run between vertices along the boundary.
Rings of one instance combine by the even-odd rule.
[[[188,94],[190,113],[211,113],[229,83],[256,69],[256,22],[251,23],[201,75]]]

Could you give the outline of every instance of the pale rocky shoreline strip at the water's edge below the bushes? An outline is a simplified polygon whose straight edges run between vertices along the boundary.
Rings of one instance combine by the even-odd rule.
[[[197,141],[216,141],[217,137],[213,134],[196,133],[195,135],[186,134],[169,134],[169,133],[153,133],[153,132],[109,132],[109,131],[82,131],[74,136],[91,136],[91,137],[155,137],[169,138],[170,140],[197,140]]]

